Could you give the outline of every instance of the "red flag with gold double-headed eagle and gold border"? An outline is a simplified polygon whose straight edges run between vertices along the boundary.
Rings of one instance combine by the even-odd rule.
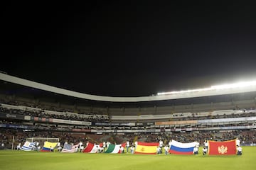
[[[208,154],[236,154],[235,140],[223,142],[208,140]]]

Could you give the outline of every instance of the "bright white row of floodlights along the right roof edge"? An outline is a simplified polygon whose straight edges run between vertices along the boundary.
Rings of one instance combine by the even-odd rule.
[[[157,95],[186,94],[186,93],[200,92],[200,91],[212,91],[212,90],[243,88],[243,87],[247,87],[247,86],[256,86],[256,81],[247,81],[247,82],[239,82],[239,83],[235,83],[235,84],[216,85],[216,86],[210,86],[208,88],[203,88],[203,89],[192,89],[192,90],[185,90],[185,91],[161,92],[161,93],[157,93]]]

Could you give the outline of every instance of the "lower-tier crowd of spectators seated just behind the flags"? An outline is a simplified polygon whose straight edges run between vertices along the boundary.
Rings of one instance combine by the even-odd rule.
[[[197,141],[200,145],[203,145],[205,140],[225,141],[234,140],[239,138],[241,145],[256,144],[256,131],[255,130],[233,130],[233,131],[210,131],[210,132],[174,132],[172,134],[125,134],[125,135],[96,135],[96,134],[85,134],[85,133],[73,133],[73,132],[53,132],[53,131],[32,131],[24,132],[14,128],[0,128],[0,142],[5,148],[11,148],[13,142],[14,146],[18,143],[26,142],[28,137],[48,137],[48,138],[59,138],[60,143],[64,142],[84,142],[87,141],[99,144],[103,141],[109,141],[115,144],[121,144],[126,141],[134,142],[134,140],[142,142],[159,142],[164,141],[164,144],[168,144],[170,140],[176,140],[179,142],[194,142]],[[13,141],[14,140],[14,141]]]

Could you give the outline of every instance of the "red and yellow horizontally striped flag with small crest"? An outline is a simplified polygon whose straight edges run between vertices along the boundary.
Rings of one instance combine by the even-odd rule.
[[[134,154],[156,154],[159,142],[138,142]]]

